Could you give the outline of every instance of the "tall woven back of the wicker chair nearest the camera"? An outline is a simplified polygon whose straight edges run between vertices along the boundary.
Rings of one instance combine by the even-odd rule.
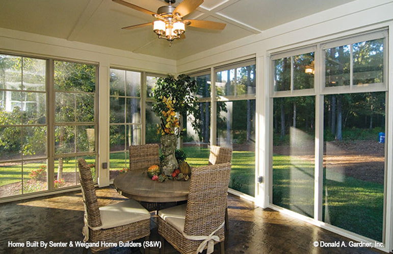
[[[207,236],[224,221],[230,163],[193,168],[184,232]],[[216,234],[223,239],[224,229]]]

